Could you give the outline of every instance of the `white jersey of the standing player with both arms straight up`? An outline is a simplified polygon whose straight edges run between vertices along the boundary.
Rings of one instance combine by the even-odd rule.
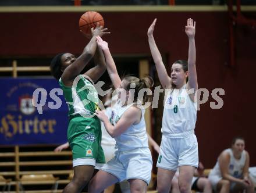
[[[161,130],[166,137],[182,138],[194,134],[197,103],[191,101],[185,88],[186,84],[166,93]]]

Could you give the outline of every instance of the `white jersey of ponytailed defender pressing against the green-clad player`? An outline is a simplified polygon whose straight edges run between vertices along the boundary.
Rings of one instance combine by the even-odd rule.
[[[114,126],[116,123],[118,123],[123,113],[134,105],[134,103],[131,103],[127,106],[121,106],[120,103],[121,102],[119,100],[112,109],[111,123]],[[142,115],[140,123],[132,124],[124,133],[115,138],[116,148],[118,148],[119,151],[127,151],[136,148],[148,148],[148,137],[144,120],[145,109],[141,109],[141,113]]]

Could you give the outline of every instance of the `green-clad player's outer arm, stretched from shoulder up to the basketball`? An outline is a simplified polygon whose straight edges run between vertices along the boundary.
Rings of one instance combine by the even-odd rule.
[[[79,58],[76,59],[76,61],[74,61],[74,63],[72,63],[72,65],[66,67],[61,76],[62,81],[65,85],[71,86],[73,84],[74,78],[76,78],[81,73],[81,71],[88,64],[91,58],[93,58],[97,48],[96,36],[108,34],[108,32],[105,32],[106,30],[107,28],[102,29],[102,26],[99,25],[97,25],[95,30],[93,30],[93,28],[91,29],[93,37],[84,48],[83,53],[79,56]]]

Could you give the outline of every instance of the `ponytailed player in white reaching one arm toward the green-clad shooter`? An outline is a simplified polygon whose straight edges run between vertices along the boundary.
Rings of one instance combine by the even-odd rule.
[[[137,108],[136,103],[138,92],[150,88],[152,83],[149,78],[140,80],[133,76],[121,81],[108,43],[100,37],[97,37],[97,43],[104,52],[111,81],[118,88],[119,100],[112,110],[110,121],[101,111],[96,115],[104,122],[106,131],[115,138],[118,151],[90,181],[88,192],[101,192],[109,185],[123,180],[129,181],[131,192],[146,192],[151,179],[152,157],[145,128],[145,110]],[[131,97],[132,88],[134,97]],[[144,95],[143,103],[147,101],[148,96]]]

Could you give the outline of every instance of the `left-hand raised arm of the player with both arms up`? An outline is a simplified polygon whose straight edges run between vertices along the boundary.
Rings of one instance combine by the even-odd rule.
[[[169,88],[172,85],[172,79],[168,76],[168,73],[165,69],[165,65],[163,64],[161,53],[157,48],[157,44],[155,44],[153,31],[155,28],[155,23],[157,19],[151,24],[150,28],[148,28],[148,43],[150,44],[151,55],[155,62],[155,67],[157,68],[157,73],[161,85],[163,88]]]

